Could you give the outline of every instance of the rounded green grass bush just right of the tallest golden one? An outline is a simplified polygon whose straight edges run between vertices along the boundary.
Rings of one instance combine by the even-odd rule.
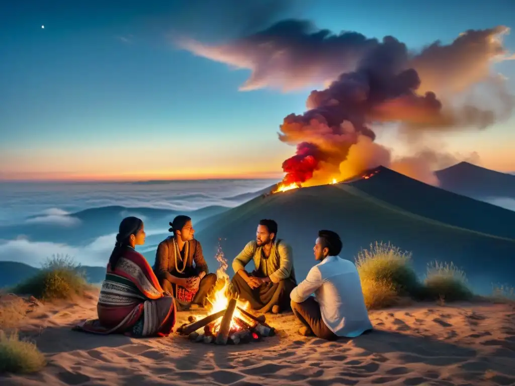
[[[457,268],[453,262],[442,264],[435,261],[428,264],[424,287],[428,300],[453,302],[471,300],[473,297],[465,272]]]

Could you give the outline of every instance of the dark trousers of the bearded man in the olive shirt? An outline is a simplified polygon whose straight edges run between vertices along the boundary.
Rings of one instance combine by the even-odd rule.
[[[268,282],[257,288],[250,288],[239,272],[233,276],[231,283],[240,299],[246,300],[251,309],[260,312],[270,312],[275,305],[279,306],[279,311],[288,310],[289,294],[296,285],[293,280],[287,278],[279,283]]]

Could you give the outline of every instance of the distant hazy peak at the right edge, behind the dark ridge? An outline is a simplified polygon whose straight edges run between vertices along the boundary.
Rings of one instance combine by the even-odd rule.
[[[440,187],[477,199],[490,197],[515,198],[515,176],[468,162],[460,162],[435,172]]]

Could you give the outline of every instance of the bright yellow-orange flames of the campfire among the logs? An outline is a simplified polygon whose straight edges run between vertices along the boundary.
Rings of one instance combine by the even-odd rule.
[[[224,251],[222,251],[221,245],[218,244],[218,251],[216,252],[216,261],[219,262],[220,267],[216,270],[216,285],[213,293],[208,296],[208,301],[211,304],[211,308],[209,309],[209,315],[219,312],[221,310],[225,310],[229,305],[229,300],[234,297],[232,296],[231,291],[231,283],[229,281],[229,275],[226,273],[228,264],[227,259],[225,258]],[[249,303],[247,301],[242,301],[237,299],[236,306],[247,310],[249,307]],[[240,330],[241,328],[234,322],[234,318],[239,318],[244,321],[248,321],[248,318],[240,312],[237,308],[234,310],[231,320],[231,329]],[[215,325],[213,326],[213,333],[216,334],[220,328],[220,322],[222,318],[219,318]]]

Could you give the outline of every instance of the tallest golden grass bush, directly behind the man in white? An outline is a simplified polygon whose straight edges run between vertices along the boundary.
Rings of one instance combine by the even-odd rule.
[[[402,296],[418,296],[420,283],[411,266],[411,254],[393,245],[375,243],[359,252],[356,268],[362,282],[367,307],[396,304]]]

